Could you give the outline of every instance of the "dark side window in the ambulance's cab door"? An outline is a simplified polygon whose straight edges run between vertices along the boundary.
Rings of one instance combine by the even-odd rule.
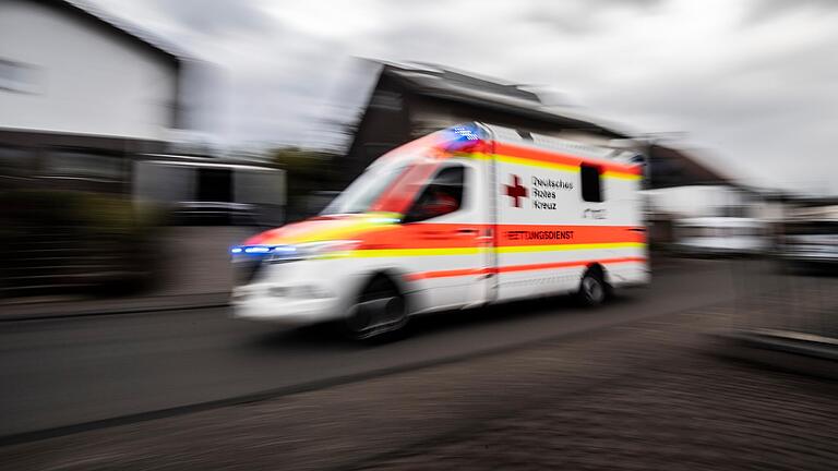
[[[441,169],[426,185],[405,217],[406,222],[417,222],[444,216],[463,207],[465,167],[460,165]]]

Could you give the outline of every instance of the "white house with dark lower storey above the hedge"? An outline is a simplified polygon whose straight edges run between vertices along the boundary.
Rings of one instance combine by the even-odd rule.
[[[139,29],[63,0],[0,2],[0,176],[124,191],[127,156],[181,126],[183,60]]]

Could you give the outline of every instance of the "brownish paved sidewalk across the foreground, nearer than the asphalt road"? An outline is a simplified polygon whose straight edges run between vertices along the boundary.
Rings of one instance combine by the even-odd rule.
[[[835,470],[838,384],[718,358],[727,317],[9,446],[0,469]]]

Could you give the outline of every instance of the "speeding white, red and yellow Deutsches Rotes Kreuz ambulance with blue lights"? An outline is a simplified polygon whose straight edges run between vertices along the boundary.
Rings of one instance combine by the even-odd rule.
[[[230,249],[239,318],[336,322],[357,339],[410,316],[649,281],[643,157],[481,123],[375,160],[323,213]]]

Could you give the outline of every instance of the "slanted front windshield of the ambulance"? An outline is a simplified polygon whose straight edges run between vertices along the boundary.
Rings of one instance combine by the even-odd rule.
[[[404,173],[405,169],[407,169],[407,164],[399,162],[367,170],[330,203],[321,214],[333,215],[370,210],[379,197]]]

